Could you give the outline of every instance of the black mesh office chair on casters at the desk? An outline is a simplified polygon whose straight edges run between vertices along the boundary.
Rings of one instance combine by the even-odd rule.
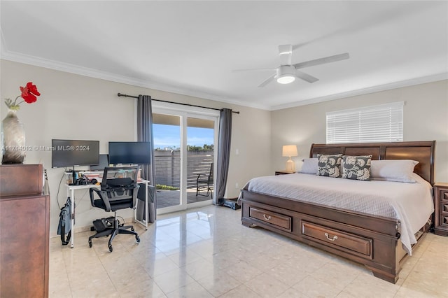
[[[140,242],[139,234],[134,232],[132,225],[120,225],[117,219],[117,210],[125,208],[135,208],[137,204],[137,173],[139,166],[106,167],[104,168],[101,189],[90,188],[90,202],[92,206],[102,208],[106,212],[113,211],[113,225],[104,225],[102,229],[97,229],[97,234],[89,237],[89,247],[92,247],[92,239],[102,236],[109,236],[109,251],[112,253],[112,240],[117,234],[132,234],[137,243]],[[94,199],[97,194],[99,199]],[[107,219],[109,220],[109,218]],[[129,230],[131,229],[131,230]]]

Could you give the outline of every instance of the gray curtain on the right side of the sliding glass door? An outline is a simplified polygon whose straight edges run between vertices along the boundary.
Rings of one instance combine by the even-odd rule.
[[[232,139],[232,110],[223,108],[219,117],[218,166],[216,167],[216,199],[224,203],[225,187],[229,172],[230,140]]]

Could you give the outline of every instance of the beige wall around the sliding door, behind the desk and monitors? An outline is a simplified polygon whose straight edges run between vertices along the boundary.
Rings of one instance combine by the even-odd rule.
[[[269,111],[134,87],[3,59],[0,63],[2,101],[8,97],[17,97],[20,94],[19,86],[29,81],[35,83],[41,92],[36,103],[22,104],[18,112],[18,117],[25,125],[27,146],[49,147],[51,139],[99,140],[100,152],[106,153],[109,141],[134,141],[135,100],[117,97],[116,94],[148,94],[156,99],[240,111],[239,115],[233,114],[227,197],[237,197],[239,194],[236,183],[244,185],[249,178],[269,173],[271,168]],[[2,102],[1,119],[5,117],[6,111]],[[62,206],[66,200],[66,187],[64,182],[60,182],[63,169],[51,169],[50,151],[29,151],[25,163],[43,163],[48,169],[51,194],[50,232],[55,235],[59,205]],[[88,192],[76,192],[76,202],[77,228],[88,227],[95,218],[104,217],[104,211],[90,207]],[[132,213],[123,213],[123,216],[130,218]]]

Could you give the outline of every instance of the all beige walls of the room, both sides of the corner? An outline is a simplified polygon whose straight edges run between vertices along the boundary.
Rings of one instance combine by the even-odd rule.
[[[25,125],[27,146],[50,146],[51,139],[91,139],[100,141],[100,152],[107,152],[109,141],[133,141],[135,137],[134,100],[124,94],[148,94],[156,99],[197,104],[212,108],[232,108],[232,146],[226,197],[237,197],[250,178],[272,175],[284,169],[286,157],[281,146],[297,144],[300,159],[309,155],[311,143],[325,143],[325,112],[370,106],[389,101],[405,101],[405,141],[437,140],[436,180],[448,181],[448,96],[447,81],[416,85],[384,92],[311,104],[280,111],[264,111],[180,94],[150,90],[107,80],[78,76],[0,60],[3,101],[20,94],[20,85],[32,81],[41,92],[34,104],[22,104],[18,116]],[[0,104],[0,118],[6,106]],[[50,151],[30,151],[25,163],[43,163],[48,169],[51,193],[51,234],[55,235],[59,205],[66,189],[59,184],[62,169],[51,169]],[[76,227],[88,227],[104,212],[90,207],[87,192],[76,193]],[[131,216],[130,214],[128,215]]]

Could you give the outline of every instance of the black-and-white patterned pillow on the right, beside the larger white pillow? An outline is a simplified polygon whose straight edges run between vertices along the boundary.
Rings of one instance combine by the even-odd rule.
[[[370,180],[372,155],[342,157],[342,178],[353,180]]]

